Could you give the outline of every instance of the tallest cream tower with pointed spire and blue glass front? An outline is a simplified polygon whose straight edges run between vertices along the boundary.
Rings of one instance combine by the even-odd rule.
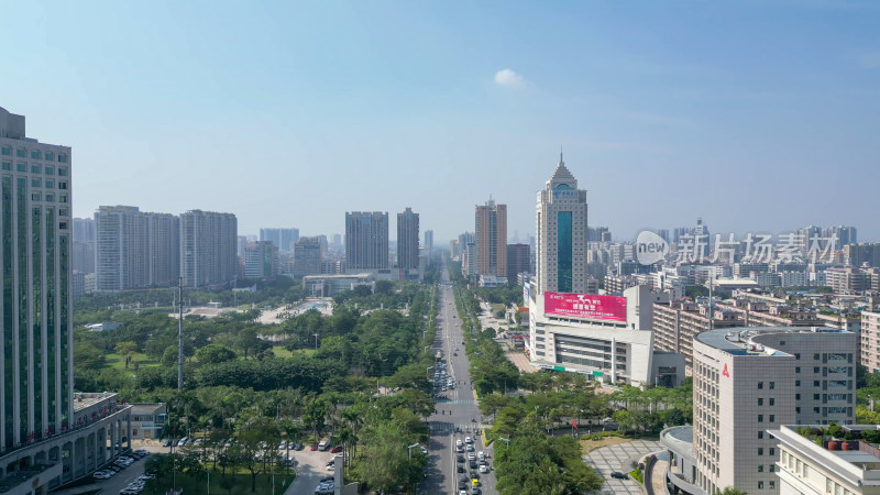
[[[578,189],[561,154],[537,209],[538,292],[586,293],[586,191]]]

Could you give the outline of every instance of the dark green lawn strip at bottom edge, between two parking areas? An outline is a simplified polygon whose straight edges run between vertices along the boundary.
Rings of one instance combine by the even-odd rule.
[[[286,479],[283,473],[275,474],[275,493],[282,494],[286,490],[286,487],[294,481],[296,475],[290,473]],[[210,484],[210,493],[222,495],[222,494],[272,494],[272,475],[271,474],[258,474],[256,476],[256,491],[251,492],[251,474],[250,473],[235,473],[230,474],[227,473],[226,476],[221,475],[219,471],[211,472],[211,484]],[[194,493],[208,493],[208,479],[200,477],[200,479],[193,479],[191,476],[177,474],[176,476],[176,485],[177,490],[183,488],[184,494],[194,494]],[[172,479],[170,476],[163,476],[158,480],[155,480],[155,485],[151,487],[147,485],[147,490],[144,490],[144,494],[156,494],[162,495],[166,491],[172,490]]]

